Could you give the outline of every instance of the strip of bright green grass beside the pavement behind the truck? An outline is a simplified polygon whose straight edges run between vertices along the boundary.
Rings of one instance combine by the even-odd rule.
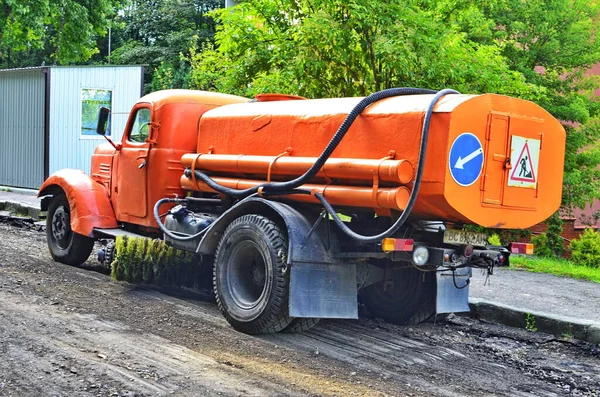
[[[530,272],[549,273],[556,276],[579,278],[600,283],[600,268],[576,265],[566,259],[511,255],[510,267],[511,269],[524,269]]]

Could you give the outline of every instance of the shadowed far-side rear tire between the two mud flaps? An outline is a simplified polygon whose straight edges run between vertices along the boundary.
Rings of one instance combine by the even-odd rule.
[[[414,268],[396,269],[392,288],[384,290],[384,283],[380,281],[361,290],[359,299],[372,315],[390,323],[421,323],[435,314],[435,273]]]

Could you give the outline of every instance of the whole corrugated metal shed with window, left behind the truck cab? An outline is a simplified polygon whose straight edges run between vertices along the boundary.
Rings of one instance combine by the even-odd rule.
[[[53,172],[90,172],[98,109],[110,108],[119,141],[142,95],[142,66],[0,69],[0,185],[37,189]]]

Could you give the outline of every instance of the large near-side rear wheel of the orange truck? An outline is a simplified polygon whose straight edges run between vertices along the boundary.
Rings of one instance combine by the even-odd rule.
[[[268,218],[244,215],[223,233],[215,255],[215,298],[238,331],[257,335],[283,330],[288,310],[287,236]]]

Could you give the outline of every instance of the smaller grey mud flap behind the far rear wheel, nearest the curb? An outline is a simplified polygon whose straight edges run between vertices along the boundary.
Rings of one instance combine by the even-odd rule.
[[[436,273],[437,277],[437,313],[468,312],[469,308],[469,281],[471,268],[465,267]],[[458,287],[458,288],[457,288]]]

